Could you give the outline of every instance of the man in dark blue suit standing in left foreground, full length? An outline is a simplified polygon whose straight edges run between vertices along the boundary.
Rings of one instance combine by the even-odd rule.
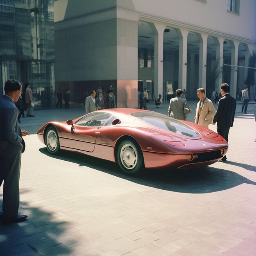
[[[18,215],[20,203],[19,180],[21,153],[25,150],[25,142],[21,136],[29,135],[20,130],[18,109],[14,102],[21,95],[22,85],[14,79],[4,84],[5,95],[0,99],[0,186],[4,181],[2,222],[20,222],[27,215]]]

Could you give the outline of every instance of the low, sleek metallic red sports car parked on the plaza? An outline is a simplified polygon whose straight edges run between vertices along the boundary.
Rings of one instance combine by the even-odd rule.
[[[117,162],[129,174],[144,168],[208,166],[228,150],[223,137],[203,126],[132,108],[48,122],[37,135],[50,153],[62,149],[99,157]]]

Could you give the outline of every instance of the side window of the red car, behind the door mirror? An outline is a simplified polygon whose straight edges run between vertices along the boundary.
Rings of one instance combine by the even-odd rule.
[[[75,125],[78,126],[94,126],[99,127],[103,126],[106,121],[110,118],[110,114],[104,112],[94,112],[92,114],[88,114],[78,121],[76,121]]]

